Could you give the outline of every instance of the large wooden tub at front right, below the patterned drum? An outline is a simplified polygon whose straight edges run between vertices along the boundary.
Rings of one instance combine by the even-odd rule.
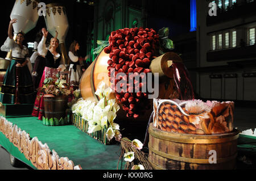
[[[180,134],[161,131],[151,123],[148,132],[148,160],[156,170],[236,169],[237,131],[212,135]],[[215,155],[216,163],[212,163]]]

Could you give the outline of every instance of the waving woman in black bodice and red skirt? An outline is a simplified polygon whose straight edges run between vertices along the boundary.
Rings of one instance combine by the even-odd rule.
[[[42,29],[43,37],[42,40],[38,44],[38,53],[40,56],[43,56],[46,61],[46,66],[43,71],[42,78],[39,83],[39,88],[43,87],[44,79],[53,78],[53,80],[57,80],[56,74],[58,71],[64,71],[65,65],[63,64],[63,60],[61,60],[60,53],[57,52],[57,48],[59,47],[59,40],[56,37],[52,37],[50,41],[49,48],[46,48],[46,38],[48,35],[48,31],[46,28]],[[39,120],[42,120],[44,116],[44,98],[42,92],[38,91],[35,99],[34,108],[32,111],[32,116],[38,117]]]

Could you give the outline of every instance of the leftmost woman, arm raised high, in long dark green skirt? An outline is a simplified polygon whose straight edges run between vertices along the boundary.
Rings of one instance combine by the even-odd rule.
[[[30,62],[28,48],[22,45],[24,33],[18,32],[16,41],[13,39],[13,23],[17,19],[12,19],[9,24],[8,37],[2,45],[1,50],[9,52],[11,50],[11,63],[6,70],[5,78],[0,94],[0,102],[15,103],[16,93],[16,74],[18,74],[18,102],[17,103],[33,103],[35,100],[34,88],[32,84],[31,72],[28,69]]]

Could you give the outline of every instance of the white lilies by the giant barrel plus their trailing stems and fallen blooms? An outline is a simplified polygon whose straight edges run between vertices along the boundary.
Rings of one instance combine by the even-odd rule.
[[[92,100],[77,99],[76,103],[72,105],[71,110],[76,115],[88,121],[88,133],[94,133],[106,129],[106,137],[108,140],[119,141],[122,146],[122,153],[120,159],[124,158],[127,169],[144,170],[152,169],[150,163],[147,161],[146,155],[141,151],[143,144],[141,141],[128,138],[122,138],[119,131],[119,125],[114,123],[117,116],[117,111],[120,109],[115,99],[110,99],[110,93],[113,92],[110,87],[107,87],[104,82],[101,82],[95,94],[100,98],[98,102]],[[76,98],[80,95],[80,91],[74,91]],[[117,166],[118,167],[118,166]]]

